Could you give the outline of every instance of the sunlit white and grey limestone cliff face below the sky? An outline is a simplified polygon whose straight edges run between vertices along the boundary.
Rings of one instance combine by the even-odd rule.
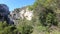
[[[13,19],[26,18],[27,20],[31,20],[33,16],[33,11],[28,10],[27,7],[18,8],[11,13],[11,16]]]

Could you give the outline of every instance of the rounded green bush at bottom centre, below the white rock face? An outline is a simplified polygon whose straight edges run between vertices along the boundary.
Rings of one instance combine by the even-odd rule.
[[[17,29],[19,32],[21,32],[21,34],[31,34],[33,32],[33,27],[31,25],[31,22],[25,19],[20,20]]]

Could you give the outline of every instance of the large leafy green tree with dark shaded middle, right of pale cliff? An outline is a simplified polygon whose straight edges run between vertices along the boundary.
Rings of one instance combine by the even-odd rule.
[[[58,0],[36,0],[32,5],[34,10],[34,19],[40,20],[44,26],[57,25],[56,9]]]

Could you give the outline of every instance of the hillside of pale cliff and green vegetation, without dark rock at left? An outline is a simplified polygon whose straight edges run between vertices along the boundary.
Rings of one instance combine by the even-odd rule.
[[[0,25],[2,33],[60,34],[60,0],[35,0],[28,7],[15,8],[10,18],[14,21],[15,29],[10,31],[11,26],[4,23]]]

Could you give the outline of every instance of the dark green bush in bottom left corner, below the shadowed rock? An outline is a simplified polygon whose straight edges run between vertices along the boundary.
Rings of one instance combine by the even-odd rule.
[[[0,34],[16,34],[17,30],[13,25],[8,25],[6,22],[0,22]]]

